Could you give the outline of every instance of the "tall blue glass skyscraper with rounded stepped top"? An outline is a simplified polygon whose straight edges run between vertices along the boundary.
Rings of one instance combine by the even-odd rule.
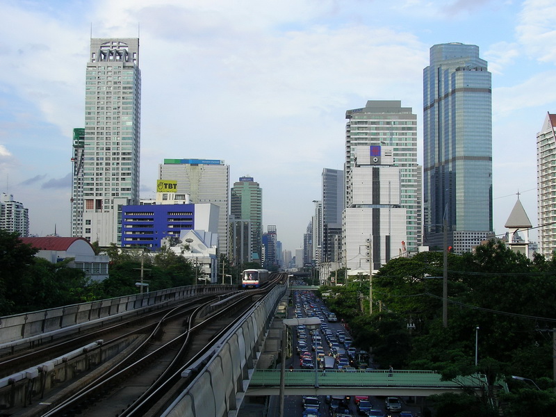
[[[437,44],[423,70],[425,243],[454,252],[493,233],[492,86],[479,47]]]

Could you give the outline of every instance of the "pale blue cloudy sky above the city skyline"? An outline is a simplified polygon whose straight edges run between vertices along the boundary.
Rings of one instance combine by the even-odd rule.
[[[517,193],[537,225],[536,135],[556,113],[550,0],[0,0],[0,192],[31,233],[70,235],[72,129],[90,38],[140,38],[140,195],[164,158],[222,159],[263,188],[263,224],[302,247],[322,169],[343,168],[345,111],[418,115],[434,44],[480,47],[492,72],[496,234]],[[486,202],[485,202],[486,204]]]

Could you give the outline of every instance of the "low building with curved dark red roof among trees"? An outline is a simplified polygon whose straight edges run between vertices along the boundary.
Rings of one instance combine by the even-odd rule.
[[[85,238],[63,238],[60,236],[46,236],[43,238],[20,238],[23,243],[39,250],[35,256],[46,259],[51,263],[73,258],[68,264],[70,268],[77,268],[85,272],[85,276],[92,281],[102,281],[108,278],[108,262],[106,255],[96,255],[95,250]]]

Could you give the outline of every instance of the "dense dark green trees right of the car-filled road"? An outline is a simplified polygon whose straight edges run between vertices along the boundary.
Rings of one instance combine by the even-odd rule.
[[[445,379],[479,372],[489,382],[486,400],[493,398],[494,382],[505,375],[552,377],[556,259],[546,261],[537,255],[530,260],[495,240],[477,247],[475,253],[448,254],[447,328],[442,320],[442,275],[441,252],[391,260],[373,276],[370,316],[361,309],[368,304],[365,281],[348,279],[343,287],[322,291],[331,293],[327,302],[347,320],[355,344],[365,350],[372,347],[375,362],[383,368],[393,363],[399,368],[438,370]],[[555,409],[555,395],[546,388],[544,394],[535,394],[539,412],[532,413],[531,400],[519,392],[521,388],[516,386],[517,391],[507,397],[512,416],[549,415],[546,410]],[[488,401],[473,395],[443,395],[436,400],[438,416],[494,415]]]

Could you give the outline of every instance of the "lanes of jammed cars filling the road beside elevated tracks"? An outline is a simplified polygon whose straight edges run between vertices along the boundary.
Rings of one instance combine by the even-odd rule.
[[[336,314],[329,311],[313,291],[293,291],[293,317],[318,317],[321,324],[320,329],[312,331],[304,325],[295,327],[295,351],[290,359],[290,370],[315,369],[315,360],[319,375],[326,375],[326,370],[332,369],[345,372],[375,369],[368,352],[354,347],[349,327],[343,320],[338,320]],[[416,407],[405,404],[398,397],[327,395],[295,397],[292,400],[293,398],[288,398],[288,404],[295,407],[294,414],[303,417],[418,416]]]

